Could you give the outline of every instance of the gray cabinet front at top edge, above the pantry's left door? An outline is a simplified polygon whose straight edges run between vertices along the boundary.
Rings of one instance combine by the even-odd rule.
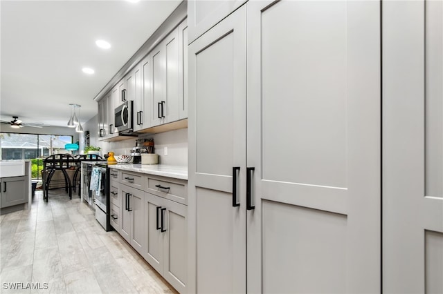
[[[198,37],[242,6],[246,0],[188,1],[188,40],[191,43]]]

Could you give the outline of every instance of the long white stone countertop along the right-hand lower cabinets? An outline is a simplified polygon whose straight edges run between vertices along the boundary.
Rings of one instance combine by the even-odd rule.
[[[188,180],[188,166],[169,166],[165,164],[116,164],[112,166],[109,165],[109,168]]]

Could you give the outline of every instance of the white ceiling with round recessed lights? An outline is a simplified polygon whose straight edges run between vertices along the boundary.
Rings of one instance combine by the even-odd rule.
[[[80,104],[88,121],[93,98],[180,2],[1,0],[0,119],[66,126],[69,104]]]

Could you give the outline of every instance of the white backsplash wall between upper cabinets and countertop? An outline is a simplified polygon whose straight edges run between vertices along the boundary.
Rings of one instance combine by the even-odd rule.
[[[89,130],[89,145],[100,146],[100,155],[109,151],[115,155],[129,155],[132,147],[136,145],[136,139],[154,139],[154,152],[159,155],[159,164],[173,166],[188,166],[188,128],[171,130],[155,135],[140,135],[138,138],[123,141],[104,142],[98,141],[98,120],[93,117],[84,124],[84,130]],[[168,148],[168,155],[165,155],[165,147]]]

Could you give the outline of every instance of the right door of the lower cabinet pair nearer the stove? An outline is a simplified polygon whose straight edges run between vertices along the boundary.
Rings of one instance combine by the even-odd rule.
[[[132,210],[131,245],[143,254],[145,242],[145,195],[142,190],[132,188],[129,195],[129,210]]]

